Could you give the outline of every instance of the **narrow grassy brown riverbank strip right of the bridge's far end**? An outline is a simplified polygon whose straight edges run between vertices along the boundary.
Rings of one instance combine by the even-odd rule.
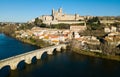
[[[120,56],[103,55],[101,53],[84,51],[84,50],[80,50],[80,49],[77,49],[77,48],[74,48],[72,51],[75,52],[75,53],[78,53],[78,54],[87,55],[87,56],[91,56],[91,57],[98,57],[98,58],[103,58],[103,59],[108,59],[108,60],[120,61]]]

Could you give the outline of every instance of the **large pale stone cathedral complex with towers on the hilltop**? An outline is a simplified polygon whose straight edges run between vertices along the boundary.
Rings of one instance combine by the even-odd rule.
[[[39,19],[43,20],[44,24],[51,25],[51,24],[79,24],[84,23],[84,16],[80,16],[79,14],[65,14],[62,11],[62,8],[59,8],[57,11],[52,9],[51,15],[42,15],[38,17]],[[29,23],[34,22],[35,19],[29,21]]]

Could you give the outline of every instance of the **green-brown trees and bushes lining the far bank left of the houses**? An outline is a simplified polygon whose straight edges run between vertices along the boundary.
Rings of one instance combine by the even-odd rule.
[[[28,24],[21,24],[21,27],[24,27],[24,29],[31,29],[32,25]],[[37,38],[21,38],[21,37],[16,37],[18,34],[16,34],[16,31],[23,30],[23,28],[20,28],[18,24],[6,24],[6,25],[0,25],[0,33],[3,33],[9,37],[15,38],[23,43],[28,43],[31,45],[38,46],[40,48],[50,46],[48,42],[45,42],[43,40],[37,39]]]

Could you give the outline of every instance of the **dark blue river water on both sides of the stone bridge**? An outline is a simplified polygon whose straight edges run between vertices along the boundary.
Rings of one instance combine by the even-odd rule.
[[[37,47],[0,34],[0,59],[34,49]],[[30,65],[20,62],[14,71],[9,67],[1,69],[0,77],[120,77],[120,62],[71,51],[56,52],[53,55],[44,53],[40,60],[33,58]]]

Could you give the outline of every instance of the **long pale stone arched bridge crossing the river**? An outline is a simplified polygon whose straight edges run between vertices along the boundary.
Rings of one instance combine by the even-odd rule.
[[[25,63],[31,64],[32,58],[36,57],[36,59],[41,59],[42,54],[45,52],[47,52],[47,54],[49,55],[52,55],[55,49],[57,51],[61,51],[61,49],[66,49],[66,44],[37,49],[7,59],[0,60],[0,69],[2,69],[5,66],[10,66],[12,70],[15,70],[21,61],[25,61]]]

